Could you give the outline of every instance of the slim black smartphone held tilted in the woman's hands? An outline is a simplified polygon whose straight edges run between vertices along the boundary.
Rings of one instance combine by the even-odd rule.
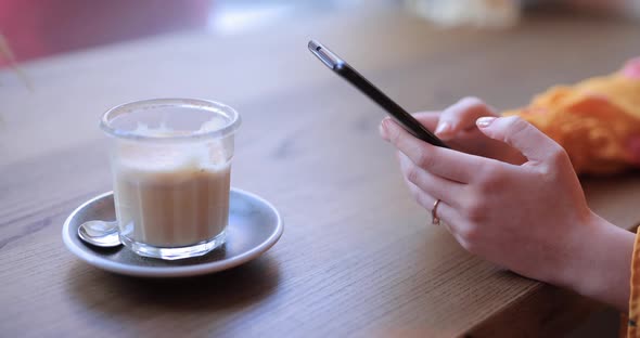
[[[424,128],[411,114],[407,113],[402,107],[395,103],[389,96],[375,88],[369,80],[367,80],[360,73],[356,72],[344,60],[340,58],[335,53],[330,51],[320,42],[309,41],[309,50],[313,55],[318,56],[322,63],[329,68],[349,81],[364,95],[369,96],[380,106],[382,106],[400,126],[415,138],[431,143],[433,145],[449,147],[445,142],[434,135],[428,129]]]

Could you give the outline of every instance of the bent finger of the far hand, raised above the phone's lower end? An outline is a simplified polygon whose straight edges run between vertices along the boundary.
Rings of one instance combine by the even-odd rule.
[[[457,133],[476,128],[475,120],[483,116],[497,116],[492,108],[477,98],[464,98],[443,110],[435,134],[450,140]]]

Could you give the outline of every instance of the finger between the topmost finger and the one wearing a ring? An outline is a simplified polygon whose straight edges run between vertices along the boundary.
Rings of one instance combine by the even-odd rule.
[[[450,181],[432,174],[415,166],[407,155],[398,152],[398,160],[405,179],[435,198],[447,200],[449,205],[459,208],[460,196],[464,195],[465,184]]]

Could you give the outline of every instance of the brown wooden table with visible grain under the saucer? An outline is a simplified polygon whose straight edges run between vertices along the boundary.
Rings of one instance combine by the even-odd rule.
[[[242,35],[184,32],[0,73],[2,336],[511,336],[564,333],[598,307],[475,258],[431,226],[377,136],[383,113],[307,51],[327,43],[411,110],[474,94],[499,108],[616,69],[640,25],[532,16],[509,30],[438,30],[398,11],[304,16]],[[272,202],[284,235],[214,275],[114,275],[62,244],[67,214],[111,190],[99,116],[158,96],[238,108],[232,184]],[[640,177],[585,182],[591,207],[640,221]],[[578,311],[568,311],[568,310]],[[535,329],[535,330],[534,330]]]

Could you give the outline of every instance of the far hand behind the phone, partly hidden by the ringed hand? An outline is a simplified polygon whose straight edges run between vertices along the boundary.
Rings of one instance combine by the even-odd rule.
[[[422,112],[413,116],[430,130],[435,130],[439,139],[457,151],[512,165],[526,161],[519,151],[479,131],[475,123],[478,118],[498,116],[479,99],[464,98],[443,112]]]

